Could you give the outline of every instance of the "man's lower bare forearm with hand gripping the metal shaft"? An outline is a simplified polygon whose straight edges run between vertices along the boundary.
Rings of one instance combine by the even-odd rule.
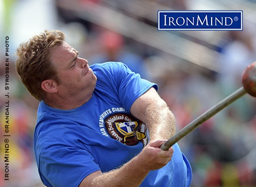
[[[118,169],[106,173],[97,171],[89,174],[82,180],[79,187],[138,187],[148,172],[164,167],[171,160],[174,150],[170,148],[168,151],[163,151],[159,148],[164,142],[166,141],[157,140],[149,143],[138,156]]]

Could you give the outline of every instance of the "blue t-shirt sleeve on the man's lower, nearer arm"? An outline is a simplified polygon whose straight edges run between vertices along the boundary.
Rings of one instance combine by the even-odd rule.
[[[54,145],[44,149],[39,157],[40,176],[51,186],[79,186],[90,173],[100,170],[85,149]],[[47,185],[47,184],[46,184]]]

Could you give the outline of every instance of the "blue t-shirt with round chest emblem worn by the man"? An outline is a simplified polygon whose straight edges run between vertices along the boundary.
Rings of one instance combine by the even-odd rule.
[[[97,76],[92,98],[72,110],[38,107],[34,150],[46,186],[79,186],[90,173],[108,172],[127,163],[147,143],[146,126],[130,114],[140,95],[156,84],[122,63],[91,66]],[[191,167],[177,144],[172,160],[151,171],[141,186],[190,186]],[[136,176],[137,173],[134,173]]]

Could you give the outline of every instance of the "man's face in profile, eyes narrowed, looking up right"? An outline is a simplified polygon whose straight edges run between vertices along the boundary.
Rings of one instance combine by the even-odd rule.
[[[95,88],[96,76],[88,61],[78,55],[79,52],[65,42],[51,51],[51,61],[61,82],[57,86],[60,94],[75,96],[81,92],[92,92]]]

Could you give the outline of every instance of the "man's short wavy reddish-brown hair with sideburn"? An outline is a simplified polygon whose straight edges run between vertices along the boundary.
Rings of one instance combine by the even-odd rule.
[[[61,31],[44,31],[33,36],[16,49],[16,71],[28,92],[36,99],[43,100],[46,92],[41,88],[44,80],[60,83],[56,69],[51,63],[51,49],[63,44],[65,35]]]

